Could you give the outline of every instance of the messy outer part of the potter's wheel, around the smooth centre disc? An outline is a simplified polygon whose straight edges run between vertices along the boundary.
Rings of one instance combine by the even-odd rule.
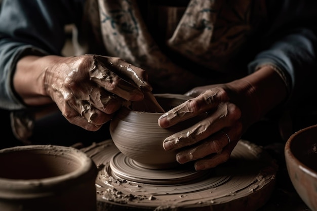
[[[243,140],[237,144],[230,159],[209,170],[207,176],[168,185],[133,181],[134,176],[131,175],[140,171],[137,168],[130,175],[131,180],[111,175],[110,162],[119,151],[111,144],[111,140],[103,144],[99,146],[102,147],[99,153],[96,153],[96,149],[86,151],[97,164],[104,165],[96,179],[98,203],[111,201],[118,206],[124,204],[126,207],[136,207],[136,210],[149,207],[159,210],[162,204],[164,207],[188,208],[230,205],[240,201],[240,208],[255,210],[266,202],[275,184],[275,162],[260,147]],[[133,169],[131,164],[130,168]],[[164,179],[164,176],[161,177]],[[167,174],[165,178],[169,180],[170,177]],[[246,206],[243,201],[248,201],[248,208],[243,207]]]

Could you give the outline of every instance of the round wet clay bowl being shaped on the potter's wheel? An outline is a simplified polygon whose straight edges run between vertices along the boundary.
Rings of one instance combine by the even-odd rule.
[[[165,111],[190,99],[177,94],[154,96]],[[110,135],[115,146],[136,164],[145,168],[162,169],[177,165],[177,151],[165,151],[163,141],[174,133],[188,128],[197,118],[163,129],[157,123],[162,114],[164,113],[136,111],[123,107],[110,122]]]

